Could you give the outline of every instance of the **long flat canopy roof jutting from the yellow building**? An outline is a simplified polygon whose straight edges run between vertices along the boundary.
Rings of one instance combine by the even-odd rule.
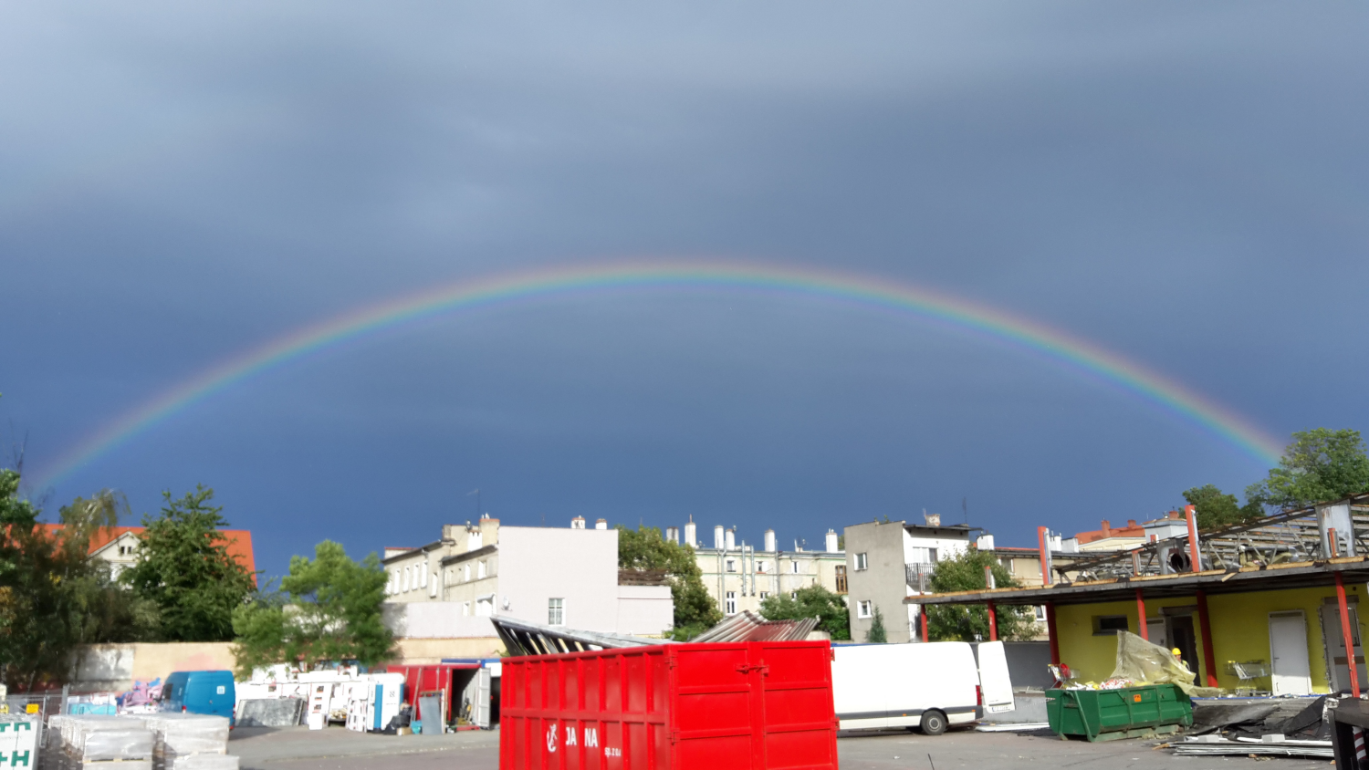
[[[957,591],[927,594],[904,599],[908,605],[1092,605],[1097,602],[1132,600],[1136,591],[1147,599],[1192,596],[1197,591],[1209,595],[1243,594],[1247,591],[1279,591],[1284,588],[1316,588],[1335,585],[1336,573],[1346,583],[1369,583],[1369,557],[1347,557],[1316,562],[1284,562],[1240,569],[1213,569],[1198,573],[1155,574],[1142,577],[1121,576],[1113,580],[1088,583],[1057,583],[1051,587],[998,588],[994,591]]]

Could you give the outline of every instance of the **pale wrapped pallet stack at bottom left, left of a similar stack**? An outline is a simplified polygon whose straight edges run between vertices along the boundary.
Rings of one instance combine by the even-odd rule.
[[[152,770],[152,730],[140,718],[55,715],[44,770]]]

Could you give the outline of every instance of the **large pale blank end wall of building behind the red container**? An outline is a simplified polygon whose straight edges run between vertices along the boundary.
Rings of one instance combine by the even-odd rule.
[[[567,626],[617,632],[617,529],[500,528],[498,614],[545,624],[560,598]]]

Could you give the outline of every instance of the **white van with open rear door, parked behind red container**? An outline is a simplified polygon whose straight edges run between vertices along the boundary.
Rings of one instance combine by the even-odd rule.
[[[919,729],[930,736],[949,725],[1013,710],[1013,682],[1002,641],[836,644],[832,700],[843,730]]]

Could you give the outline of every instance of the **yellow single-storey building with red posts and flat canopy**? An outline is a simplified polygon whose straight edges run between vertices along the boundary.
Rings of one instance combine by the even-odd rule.
[[[909,600],[987,605],[991,615],[999,606],[1046,606],[1051,659],[1082,681],[1112,673],[1116,633],[1129,630],[1181,650],[1199,684],[1309,695],[1353,688],[1342,617],[1351,630],[1355,678],[1369,687],[1355,611],[1366,581],[1369,557],[1347,557]]]

